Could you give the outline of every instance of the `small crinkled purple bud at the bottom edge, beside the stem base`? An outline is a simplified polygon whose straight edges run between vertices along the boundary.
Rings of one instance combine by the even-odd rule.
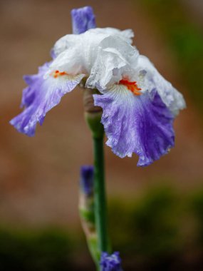
[[[109,255],[103,252],[100,260],[101,271],[122,271],[119,252]]]

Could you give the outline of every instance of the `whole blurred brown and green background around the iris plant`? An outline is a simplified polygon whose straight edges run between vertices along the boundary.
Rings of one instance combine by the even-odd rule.
[[[203,2],[0,1],[0,270],[94,270],[78,217],[80,165],[93,163],[76,88],[34,138],[9,120],[24,74],[71,33],[70,11],[91,5],[99,27],[133,29],[135,45],[184,94],[176,146],[147,168],[105,148],[109,224],[124,270],[203,270]]]

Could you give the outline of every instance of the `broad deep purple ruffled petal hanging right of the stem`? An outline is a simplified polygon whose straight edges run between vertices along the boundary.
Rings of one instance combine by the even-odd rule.
[[[150,165],[173,147],[173,116],[156,91],[137,96],[115,85],[103,95],[95,94],[94,101],[103,108],[106,144],[120,158],[136,153],[137,165]]]

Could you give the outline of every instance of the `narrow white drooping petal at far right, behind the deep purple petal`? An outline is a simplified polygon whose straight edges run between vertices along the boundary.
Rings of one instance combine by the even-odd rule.
[[[147,91],[156,90],[162,98],[162,101],[174,116],[177,116],[179,111],[186,107],[182,94],[179,93],[179,91],[177,91],[170,82],[161,76],[146,56],[139,56],[137,69],[146,72],[145,89],[147,89]]]

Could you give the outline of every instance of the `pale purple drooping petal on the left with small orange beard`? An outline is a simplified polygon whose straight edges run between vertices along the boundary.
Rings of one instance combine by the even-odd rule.
[[[49,65],[50,63],[39,68],[35,76],[26,76],[29,86],[24,89],[21,103],[26,108],[10,121],[11,125],[27,136],[34,136],[36,124],[42,124],[46,113],[58,105],[63,95],[72,91],[84,76],[70,76],[57,71],[56,75],[44,78]]]

